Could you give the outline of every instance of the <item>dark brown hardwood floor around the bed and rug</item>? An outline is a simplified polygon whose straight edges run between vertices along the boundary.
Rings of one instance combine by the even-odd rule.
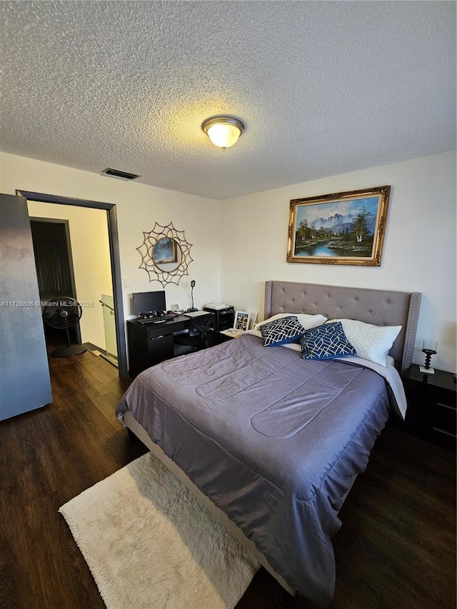
[[[114,416],[129,386],[114,366],[89,352],[49,361],[54,402],[0,423],[0,608],[103,608],[57,510],[146,448]],[[454,453],[389,425],[341,520],[333,609],[455,609]],[[261,569],[237,609],[276,608],[280,591]]]

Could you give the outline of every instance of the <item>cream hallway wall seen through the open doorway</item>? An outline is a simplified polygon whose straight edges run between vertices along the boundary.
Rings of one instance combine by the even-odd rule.
[[[28,201],[29,216],[69,221],[81,341],[106,349],[101,294],[113,296],[106,211]],[[71,296],[71,295],[66,295]]]

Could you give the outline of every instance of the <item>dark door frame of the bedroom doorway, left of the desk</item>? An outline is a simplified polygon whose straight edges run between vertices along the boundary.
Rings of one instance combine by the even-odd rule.
[[[109,253],[111,259],[111,278],[114,303],[113,308],[114,322],[116,328],[116,348],[119,361],[119,376],[121,376],[122,378],[128,377],[116,205],[114,203],[104,203],[101,201],[90,201],[87,199],[69,198],[64,196],[50,195],[46,193],[35,193],[30,191],[16,190],[16,194],[18,194],[19,196],[24,196],[29,201],[39,201],[41,203],[55,203],[56,205],[79,206],[92,209],[102,209],[106,211],[109,238]]]

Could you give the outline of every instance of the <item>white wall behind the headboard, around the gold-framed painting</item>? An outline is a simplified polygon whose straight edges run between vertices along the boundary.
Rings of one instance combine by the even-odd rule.
[[[391,185],[380,267],[287,263],[289,201]],[[263,283],[303,281],[422,293],[413,361],[456,371],[456,153],[364,169],[224,201],[221,298],[263,313]]]

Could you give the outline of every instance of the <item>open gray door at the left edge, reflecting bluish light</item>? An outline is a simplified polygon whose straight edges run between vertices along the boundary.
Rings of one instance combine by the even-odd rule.
[[[52,401],[24,197],[0,195],[0,421]]]

